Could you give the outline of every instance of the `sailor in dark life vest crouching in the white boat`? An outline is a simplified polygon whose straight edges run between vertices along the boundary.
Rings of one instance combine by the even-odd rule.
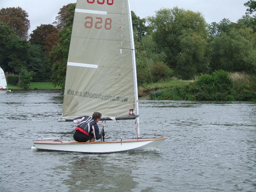
[[[97,123],[100,121],[101,113],[94,112],[92,117],[81,116],[75,118],[74,122],[79,123],[76,127],[76,132],[73,135],[74,140],[78,142],[94,142],[95,139],[101,138]]]

